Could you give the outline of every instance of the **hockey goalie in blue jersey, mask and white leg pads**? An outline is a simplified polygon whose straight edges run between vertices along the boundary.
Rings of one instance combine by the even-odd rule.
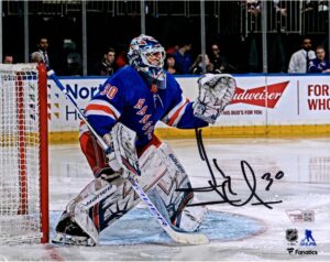
[[[207,74],[198,79],[195,102],[184,97],[175,78],[163,69],[165,52],[147,35],[132,40],[130,62],[112,75],[86,107],[88,123],[112,149],[105,152],[86,122],[80,124],[80,146],[94,181],[66,207],[53,242],[96,245],[99,233],[140,203],[123,168],[121,155],[140,167],[140,186],[173,228],[198,229],[206,207],[193,201],[188,175],[172,149],[154,134],[158,120],[179,129],[215,123],[231,101],[235,81],[231,75]]]

